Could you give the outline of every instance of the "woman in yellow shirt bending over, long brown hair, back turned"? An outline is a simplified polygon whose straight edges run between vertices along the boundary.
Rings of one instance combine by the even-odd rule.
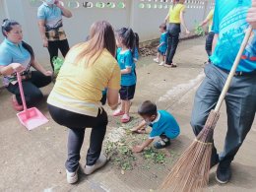
[[[86,174],[103,166],[106,157],[100,155],[106,131],[107,114],[100,105],[102,91],[107,88],[108,105],[115,109],[120,89],[120,69],[115,60],[116,43],[112,27],[96,22],[90,39],[72,47],[65,57],[56,83],[48,96],[48,109],[55,122],[69,128],[68,183],[78,180],[80,151],[86,127],[92,127],[87,154]]]

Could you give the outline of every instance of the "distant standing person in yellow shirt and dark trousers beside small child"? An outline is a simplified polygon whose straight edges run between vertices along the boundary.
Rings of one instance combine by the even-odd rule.
[[[176,65],[173,64],[172,59],[178,46],[179,32],[181,32],[180,24],[185,29],[185,32],[189,33],[184,20],[184,10],[184,0],[174,0],[173,5],[169,8],[169,12],[165,18],[165,23],[169,24],[165,67],[176,67]]]

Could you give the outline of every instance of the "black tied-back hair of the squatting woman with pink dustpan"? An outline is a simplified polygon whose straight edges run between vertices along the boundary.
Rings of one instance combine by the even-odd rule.
[[[11,32],[13,30],[14,26],[20,26],[20,24],[18,22],[16,22],[15,20],[8,20],[8,19],[4,19],[3,20],[3,24],[2,24],[2,33],[5,37],[7,37],[7,33],[6,32]],[[32,46],[28,43],[26,43],[25,41],[22,41],[22,45],[25,49],[27,49],[32,57],[32,60],[34,59],[34,52],[32,50]]]

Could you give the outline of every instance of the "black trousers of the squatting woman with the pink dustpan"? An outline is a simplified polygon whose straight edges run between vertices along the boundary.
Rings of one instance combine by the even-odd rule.
[[[50,84],[51,77],[45,76],[38,71],[32,71],[32,78],[29,80],[25,80],[22,83],[26,103],[28,106],[32,106],[43,97],[39,88],[45,87]],[[6,89],[16,96],[19,104],[23,103],[18,83],[16,83],[15,85],[10,83]]]

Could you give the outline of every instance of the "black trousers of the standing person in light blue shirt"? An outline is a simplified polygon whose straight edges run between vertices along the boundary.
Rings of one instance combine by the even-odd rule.
[[[65,57],[69,51],[69,43],[68,43],[67,39],[48,41],[48,51],[50,54],[50,64],[51,64],[52,69],[54,69],[52,59],[53,59],[53,57],[58,56],[59,49],[60,49],[60,52],[63,55],[63,57]]]

